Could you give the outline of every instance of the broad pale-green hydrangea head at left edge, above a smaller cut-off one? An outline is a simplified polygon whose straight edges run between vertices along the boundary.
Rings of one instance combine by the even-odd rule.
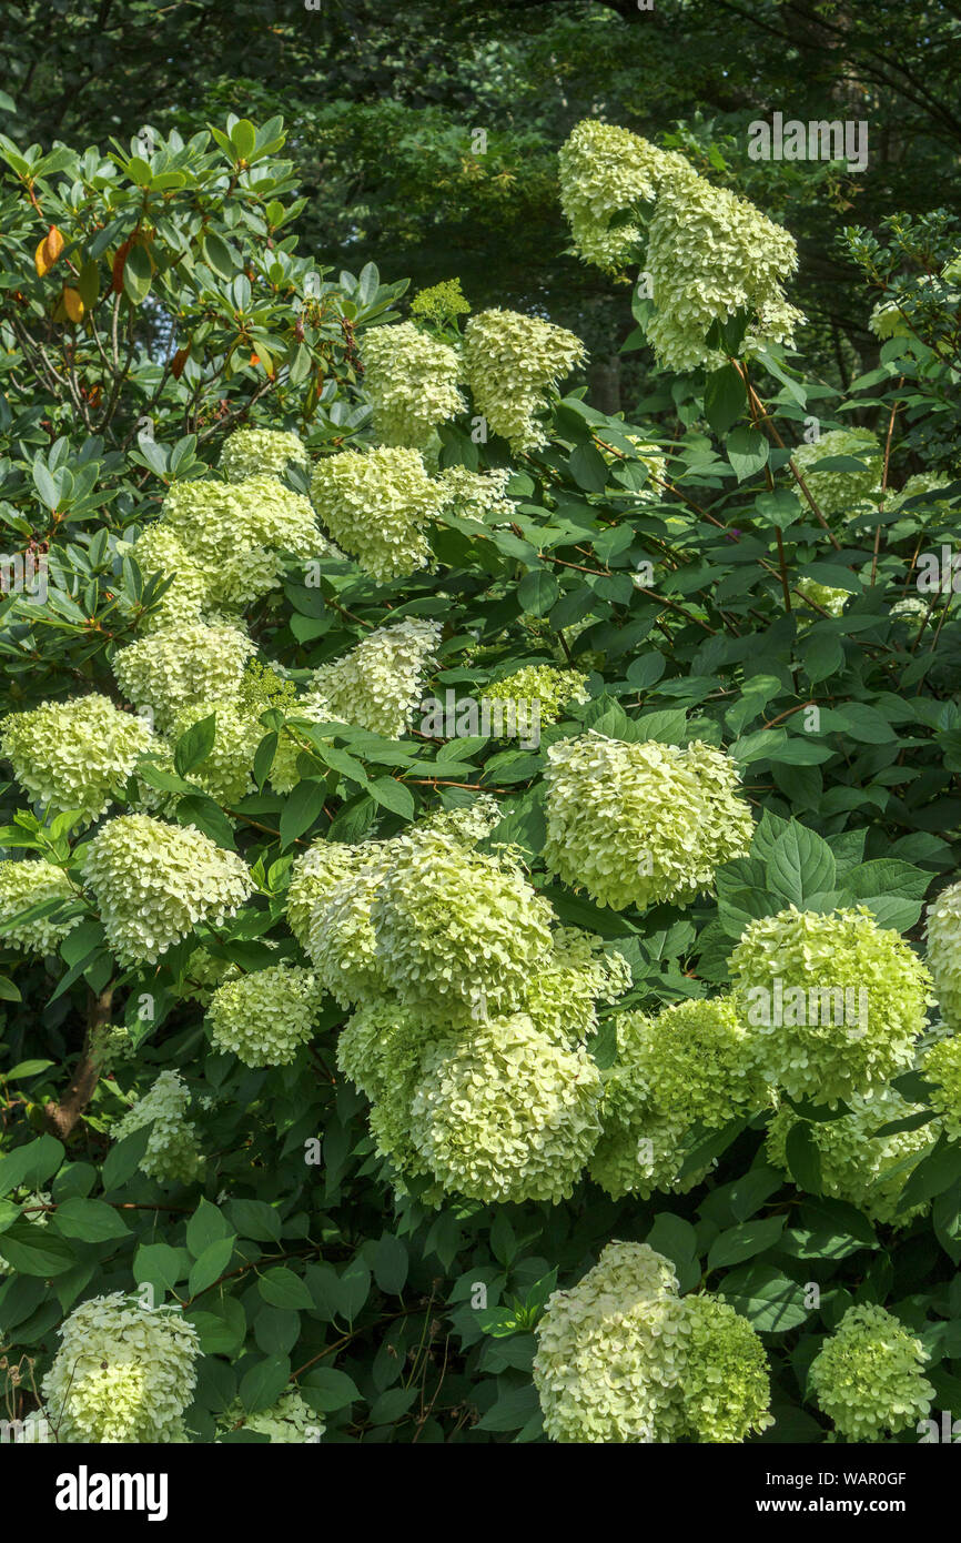
[[[96,691],[8,713],[0,724],[0,755],[20,787],[51,813],[77,810],[86,824],[123,792],[151,742],[140,717]]]

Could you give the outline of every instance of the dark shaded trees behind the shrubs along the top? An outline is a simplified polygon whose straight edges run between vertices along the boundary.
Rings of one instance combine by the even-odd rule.
[[[591,400],[631,409],[649,355],[623,285],[569,255],[557,148],[599,114],[683,150],[797,238],[805,355],[836,384],[876,361],[844,225],[956,208],[961,5],[936,0],[6,0],[0,65],[19,139],[77,147],[282,113],[319,261],[474,309],[538,309],[591,349]],[[753,119],[870,123],[859,176],[751,162]],[[486,134],[478,148],[477,131]]]

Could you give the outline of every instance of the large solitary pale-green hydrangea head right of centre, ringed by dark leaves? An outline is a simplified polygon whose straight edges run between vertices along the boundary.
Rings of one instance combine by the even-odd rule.
[[[737,767],[711,745],[588,733],[551,745],[548,759],[545,859],[599,906],[688,904],[722,863],[748,852]]]

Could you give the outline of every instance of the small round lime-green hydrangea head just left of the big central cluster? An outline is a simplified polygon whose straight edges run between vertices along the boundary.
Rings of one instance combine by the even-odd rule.
[[[310,1040],[319,1011],[313,971],[281,963],[217,986],[207,1023],[214,1048],[245,1066],[285,1066]]]

